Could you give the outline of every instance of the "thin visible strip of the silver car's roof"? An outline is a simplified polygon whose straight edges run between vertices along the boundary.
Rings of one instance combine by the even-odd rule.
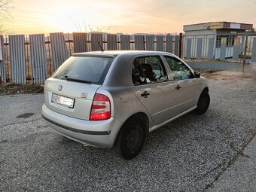
[[[130,55],[136,56],[140,54],[171,54],[167,52],[161,51],[153,51],[153,50],[104,50],[104,51],[90,51],[90,52],[83,52],[83,53],[73,53],[72,56],[104,56],[104,57],[115,57],[118,55]]]

